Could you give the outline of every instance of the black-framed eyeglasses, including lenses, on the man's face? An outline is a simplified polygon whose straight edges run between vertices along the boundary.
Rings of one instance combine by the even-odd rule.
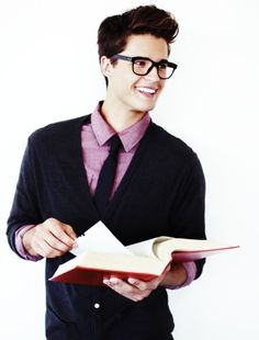
[[[132,70],[137,76],[146,76],[156,67],[157,75],[160,79],[169,79],[177,69],[177,64],[166,59],[156,63],[146,57],[127,57],[123,55],[114,55],[111,59],[132,61]]]

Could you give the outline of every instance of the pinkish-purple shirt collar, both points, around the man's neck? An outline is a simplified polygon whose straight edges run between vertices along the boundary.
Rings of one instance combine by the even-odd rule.
[[[143,138],[148,125],[150,123],[149,113],[144,115],[144,117],[119,133],[119,137],[122,140],[124,150],[126,152],[131,151]],[[103,146],[116,132],[109,125],[101,114],[101,103],[99,103],[91,116],[91,124],[93,134],[100,146]]]

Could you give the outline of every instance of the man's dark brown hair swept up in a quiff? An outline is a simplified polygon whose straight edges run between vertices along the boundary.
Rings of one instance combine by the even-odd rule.
[[[156,5],[139,5],[122,14],[108,16],[98,30],[99,60],[102,56],[111,58],[120,54],[127,44],[131,35],[151,34],[164,38],[168,45],[174,41],[179,32],[174,16]],[[105,79],[108,82],[108,79]]]

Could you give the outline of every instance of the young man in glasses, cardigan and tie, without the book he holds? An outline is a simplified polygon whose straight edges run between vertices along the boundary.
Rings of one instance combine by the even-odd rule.
[[[205,238],[200,161],[149,116],[177,68],[168,61],[177,34],[172,15],[155,5],[106,18],[98,35],[104,101],[91,115],[29,138],[8,238],[19,256],[46,258],[47,339],[172,339],[166,288],[188,285],[202,272],[204,262],[196,261],[148,283],[105,277],[100,287],[47,280],[72,258],[77,236],[100,219],[124,245],[160,235]],[[98,179],[114,135],[116,173],[109,202],[100,205]]]

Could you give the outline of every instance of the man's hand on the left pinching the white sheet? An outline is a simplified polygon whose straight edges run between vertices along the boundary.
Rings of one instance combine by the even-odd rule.
[[[76,247],[76,238],[69,225],[48,218],[24,234],[23,246],[32,256],[56,258]]]

